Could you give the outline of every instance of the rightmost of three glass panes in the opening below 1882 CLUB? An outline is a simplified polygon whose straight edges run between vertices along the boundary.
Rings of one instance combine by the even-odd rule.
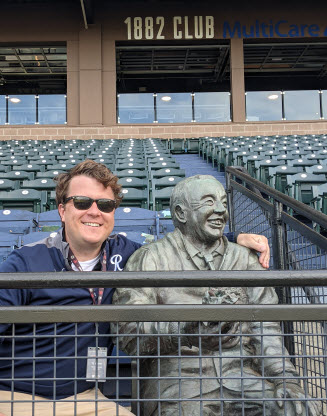
[[[196,92],[194,116],[197,122],[230,121],[229,92]]]

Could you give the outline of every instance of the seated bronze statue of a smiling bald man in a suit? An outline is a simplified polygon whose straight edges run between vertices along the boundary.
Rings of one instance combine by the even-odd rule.
[[[226,207],[224,188],[212,176],[179,182],[170,201],[175,231],[137,250],[125,270],[263,270],[255,252],[223,237]],[[113,302],[275,304],[278,299],[272,288],[124,288],[116,290]],[[301,403],[305,394],[294,379],[298,374],[287,357],[279,323],[130,322],[122,323],[119,332],[128,335],[118,338],[120,349],[128,354],[160,356],[141,361],[141,377],[152,378],[141,382],[143,416],[320,414],[318,403],[309,401],[308,413]],[[158,333],[168,335],[158,337]],[[285,409],[277,401],[284,394],[294,399],[285,403]]]

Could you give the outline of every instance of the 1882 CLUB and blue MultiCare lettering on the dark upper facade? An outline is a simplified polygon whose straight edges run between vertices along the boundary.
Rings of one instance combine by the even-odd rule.
[[[217,22],[214,16],[127,17],[127,39],[230,39],[230,38],[294,38],[327,36],[327,27],[315,23],[297,24],[280,19],[254,20],[251,24]]]

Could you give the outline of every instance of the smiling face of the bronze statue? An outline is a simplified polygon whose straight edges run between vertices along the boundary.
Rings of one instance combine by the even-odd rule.
[[[227,197],[224,188],[215,180],[199,181],[189,189],[186,209],[186,233],[193,241],[213,243],[222,237],[228,221]]]

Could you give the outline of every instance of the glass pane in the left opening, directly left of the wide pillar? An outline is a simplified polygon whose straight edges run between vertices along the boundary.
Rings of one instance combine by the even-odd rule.
[[[66,97],[64,94],[39,95],[39,123],[65,124]]]

